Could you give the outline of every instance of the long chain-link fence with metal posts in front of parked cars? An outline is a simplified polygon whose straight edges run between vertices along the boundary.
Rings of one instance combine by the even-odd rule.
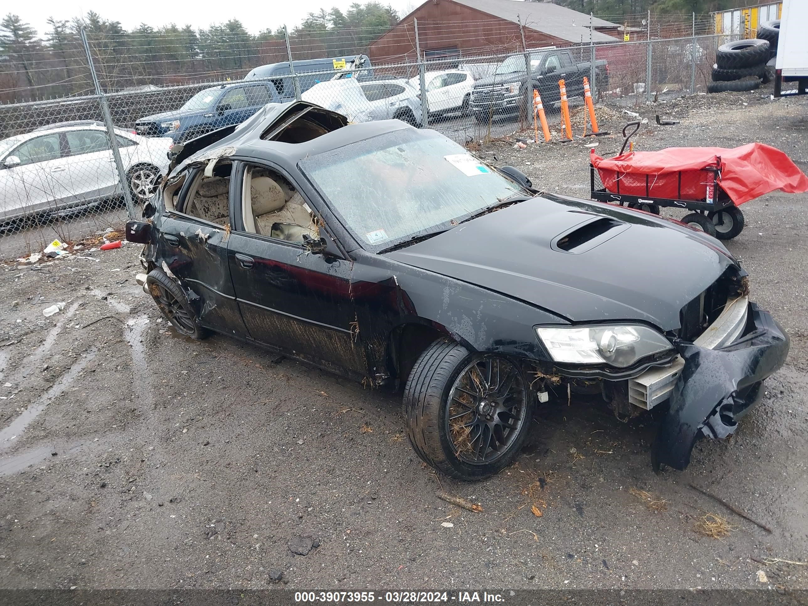
[[[246,54],[225,78],[218,72],[213,82],[175,84],[165,82],[187,74],[162,74],[145,83],[143,77],[116,75],[120,55],[107,48],[107,40],[90,39],[82,44],[83,60],[74,52],[64,65],[31,68],[64,72],[65,80],[82,82],[80,94],[0,104],[0,258],[121,225],[139,214],[137,207],[166,174],[171,145],[241,123],[266,103],[304,99],[355,122],[397,118],[467,143],[532,126],[534,89],[549,120],[558,123],[553,107],[561,79],[570,103],[583,97],[583,78],[595,99],[626,106],[658,95],[704,92],[719,38],[726,39],[638,36],[642,32],[629,42],[535,49],[525,49],[516,37],[493,49],[481,44],[475,54],[441,54],[419,48],[416,35],[415,53],[379,64],[364,53],[318,58],[327,49],[318,56],[309,48],[299,59],[303,53],[293,44],[279,50],[273,43],[275,63],[265,63],[266,52]],[[155,48],[149,61],[167,61],[158,59],[159,52],[164,50]],[[188,61],[194,69],[204,65],[199,57]],[[12,90],[0,87],[0,99]]]

